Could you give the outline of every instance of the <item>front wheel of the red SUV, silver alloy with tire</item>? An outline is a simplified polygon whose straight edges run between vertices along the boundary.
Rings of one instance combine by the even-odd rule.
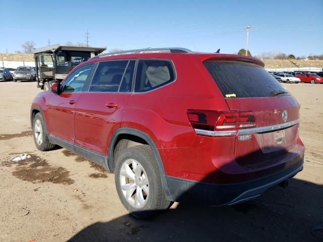
[[[48,140],[47,129],[45,126],[42,115],[38,112],[33,118],[32,122],[32,134],[34,142],[38,150],[48,151],[52,150],[56,145],[51,144]]]

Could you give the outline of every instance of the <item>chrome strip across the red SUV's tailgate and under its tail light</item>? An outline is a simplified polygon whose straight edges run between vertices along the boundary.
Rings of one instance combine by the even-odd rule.
[[[205,136],[211,136],[211,137],[232,136],[232,135],[235,135],[236,133],[237,135],[247,135],[247,134],[263,133],[268,131],[285,129],[293,125],[296,125],[298,123],[299,123],[299,118],[294,121],[284,123],[284,124],[279,124],[279,125],[271,125],[266,127],[238,130],[238,133],[236,131],[210,131],[210,130],[200,130],[200,129],[194,129],[194,131],[198,135],[205,135]]]

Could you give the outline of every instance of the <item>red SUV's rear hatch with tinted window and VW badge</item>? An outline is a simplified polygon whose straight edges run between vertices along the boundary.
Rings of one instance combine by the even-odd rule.
[[[230,111],[247,113],[251,121],[236,133],[234,156],[240,165],[257,168],[257,164],[295,147],[299,104],[272,75],[241,61],[208,61],[204,65]]]

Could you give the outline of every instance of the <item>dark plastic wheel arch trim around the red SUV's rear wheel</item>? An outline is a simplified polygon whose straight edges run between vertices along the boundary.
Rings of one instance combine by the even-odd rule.
[[[122,141],[125,138],[130,138],[130,141],[132,141],[133,143],[137,143],[138,145],[141,144],[147,144],[150,146],[156,162],[157,162],[157,166],[159,169],[159,174],[160,174],[160,179],[161,179],[161,184],[163,185],[163,189],[165,192],[165,196],[168,199],[171,199],[170,196],[170,192],[169,192],[169,188],[168,188],[168,184],[167,184],[167,180],[166,180],[166,174],[165,174],[165,169],[164,169],[164,165],[163,162],[161,161],[160,158],[160,154],[158,152],[158,149],[156,147],[156,145],[154,144],[153,140],[144,132],[140,131],[140,130],[136,130],[136,129],[132,129],[132,128],[119,128],[118,130],[116,130],[116,132],[113,134],[113,136],[111,137],[110,143],[109,143],[109,150],[108,150],[108,154],[107,154],[107,167],[110,169],[110,171],[112,173],[115,173],[115,155],[118,155],[115,152],[115,149],[118,149],[118,144],[120,144],[120,141]],[[135,146],[136,144],[132,144],[131,146]],[[128,146],[128,147],[131,147]],[[126,147],[126,148],[128,148]],[[121,152],[122,149],[117,150],[117,152]]]

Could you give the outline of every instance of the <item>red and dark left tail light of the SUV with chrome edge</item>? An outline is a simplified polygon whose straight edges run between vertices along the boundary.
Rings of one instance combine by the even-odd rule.
[[[233,136],[240,129],[256,127],[255,117],[248,111],[209,111],[193,110],[187,111],[190,124],[196,134],[206,136]]]

